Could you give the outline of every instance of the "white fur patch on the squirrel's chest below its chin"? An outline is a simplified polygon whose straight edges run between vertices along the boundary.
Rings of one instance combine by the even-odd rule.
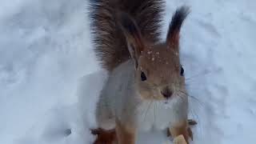
[[[164,130],[175,121],[174,102],[146,101],[137,109],[137,126],[139,130]]]

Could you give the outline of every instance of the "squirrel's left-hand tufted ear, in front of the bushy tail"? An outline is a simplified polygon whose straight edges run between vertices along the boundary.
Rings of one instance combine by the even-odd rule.
[[[134,21],[134,18],[131,18],[129,14],[121,13],[118,17],[118,25],[123,31],[130,56],[134,59],[135,65],[137,67],[138,58],[145,48],[141,31],[139,30],[137,23]]]

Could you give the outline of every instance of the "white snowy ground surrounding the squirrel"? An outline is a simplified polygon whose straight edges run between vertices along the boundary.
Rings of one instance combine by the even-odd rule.
[[[196,144],[255,142],[256,1],[168,0],[191,14],[182,64]],[[95,61],[85,0],[2,0],[0,143],[90,144],[94,106],[106,74]],[[193,97],[193,98],[192,98]],[[162,132],[138,143],[171,143]]]

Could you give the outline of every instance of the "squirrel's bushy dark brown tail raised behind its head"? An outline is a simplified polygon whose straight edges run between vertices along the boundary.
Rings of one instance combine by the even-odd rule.
[[[158,42],[163,4],[163,0],[90,0],[95,52],[106,70],[111,71],[130,58],[126,38],[117,26],[115,15],[119,11],[130,14],[143,38]]]

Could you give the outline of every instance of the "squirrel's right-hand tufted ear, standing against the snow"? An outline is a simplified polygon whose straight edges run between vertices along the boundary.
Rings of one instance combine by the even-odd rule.
[[[182,23],[186,16],[190,13],[190,9],[187,6],[182,6],[176,10],[173,15],[169,30],[167,33],[166,43],[170,48],[178,48],[179,45],[179,32],[182,27]]]

